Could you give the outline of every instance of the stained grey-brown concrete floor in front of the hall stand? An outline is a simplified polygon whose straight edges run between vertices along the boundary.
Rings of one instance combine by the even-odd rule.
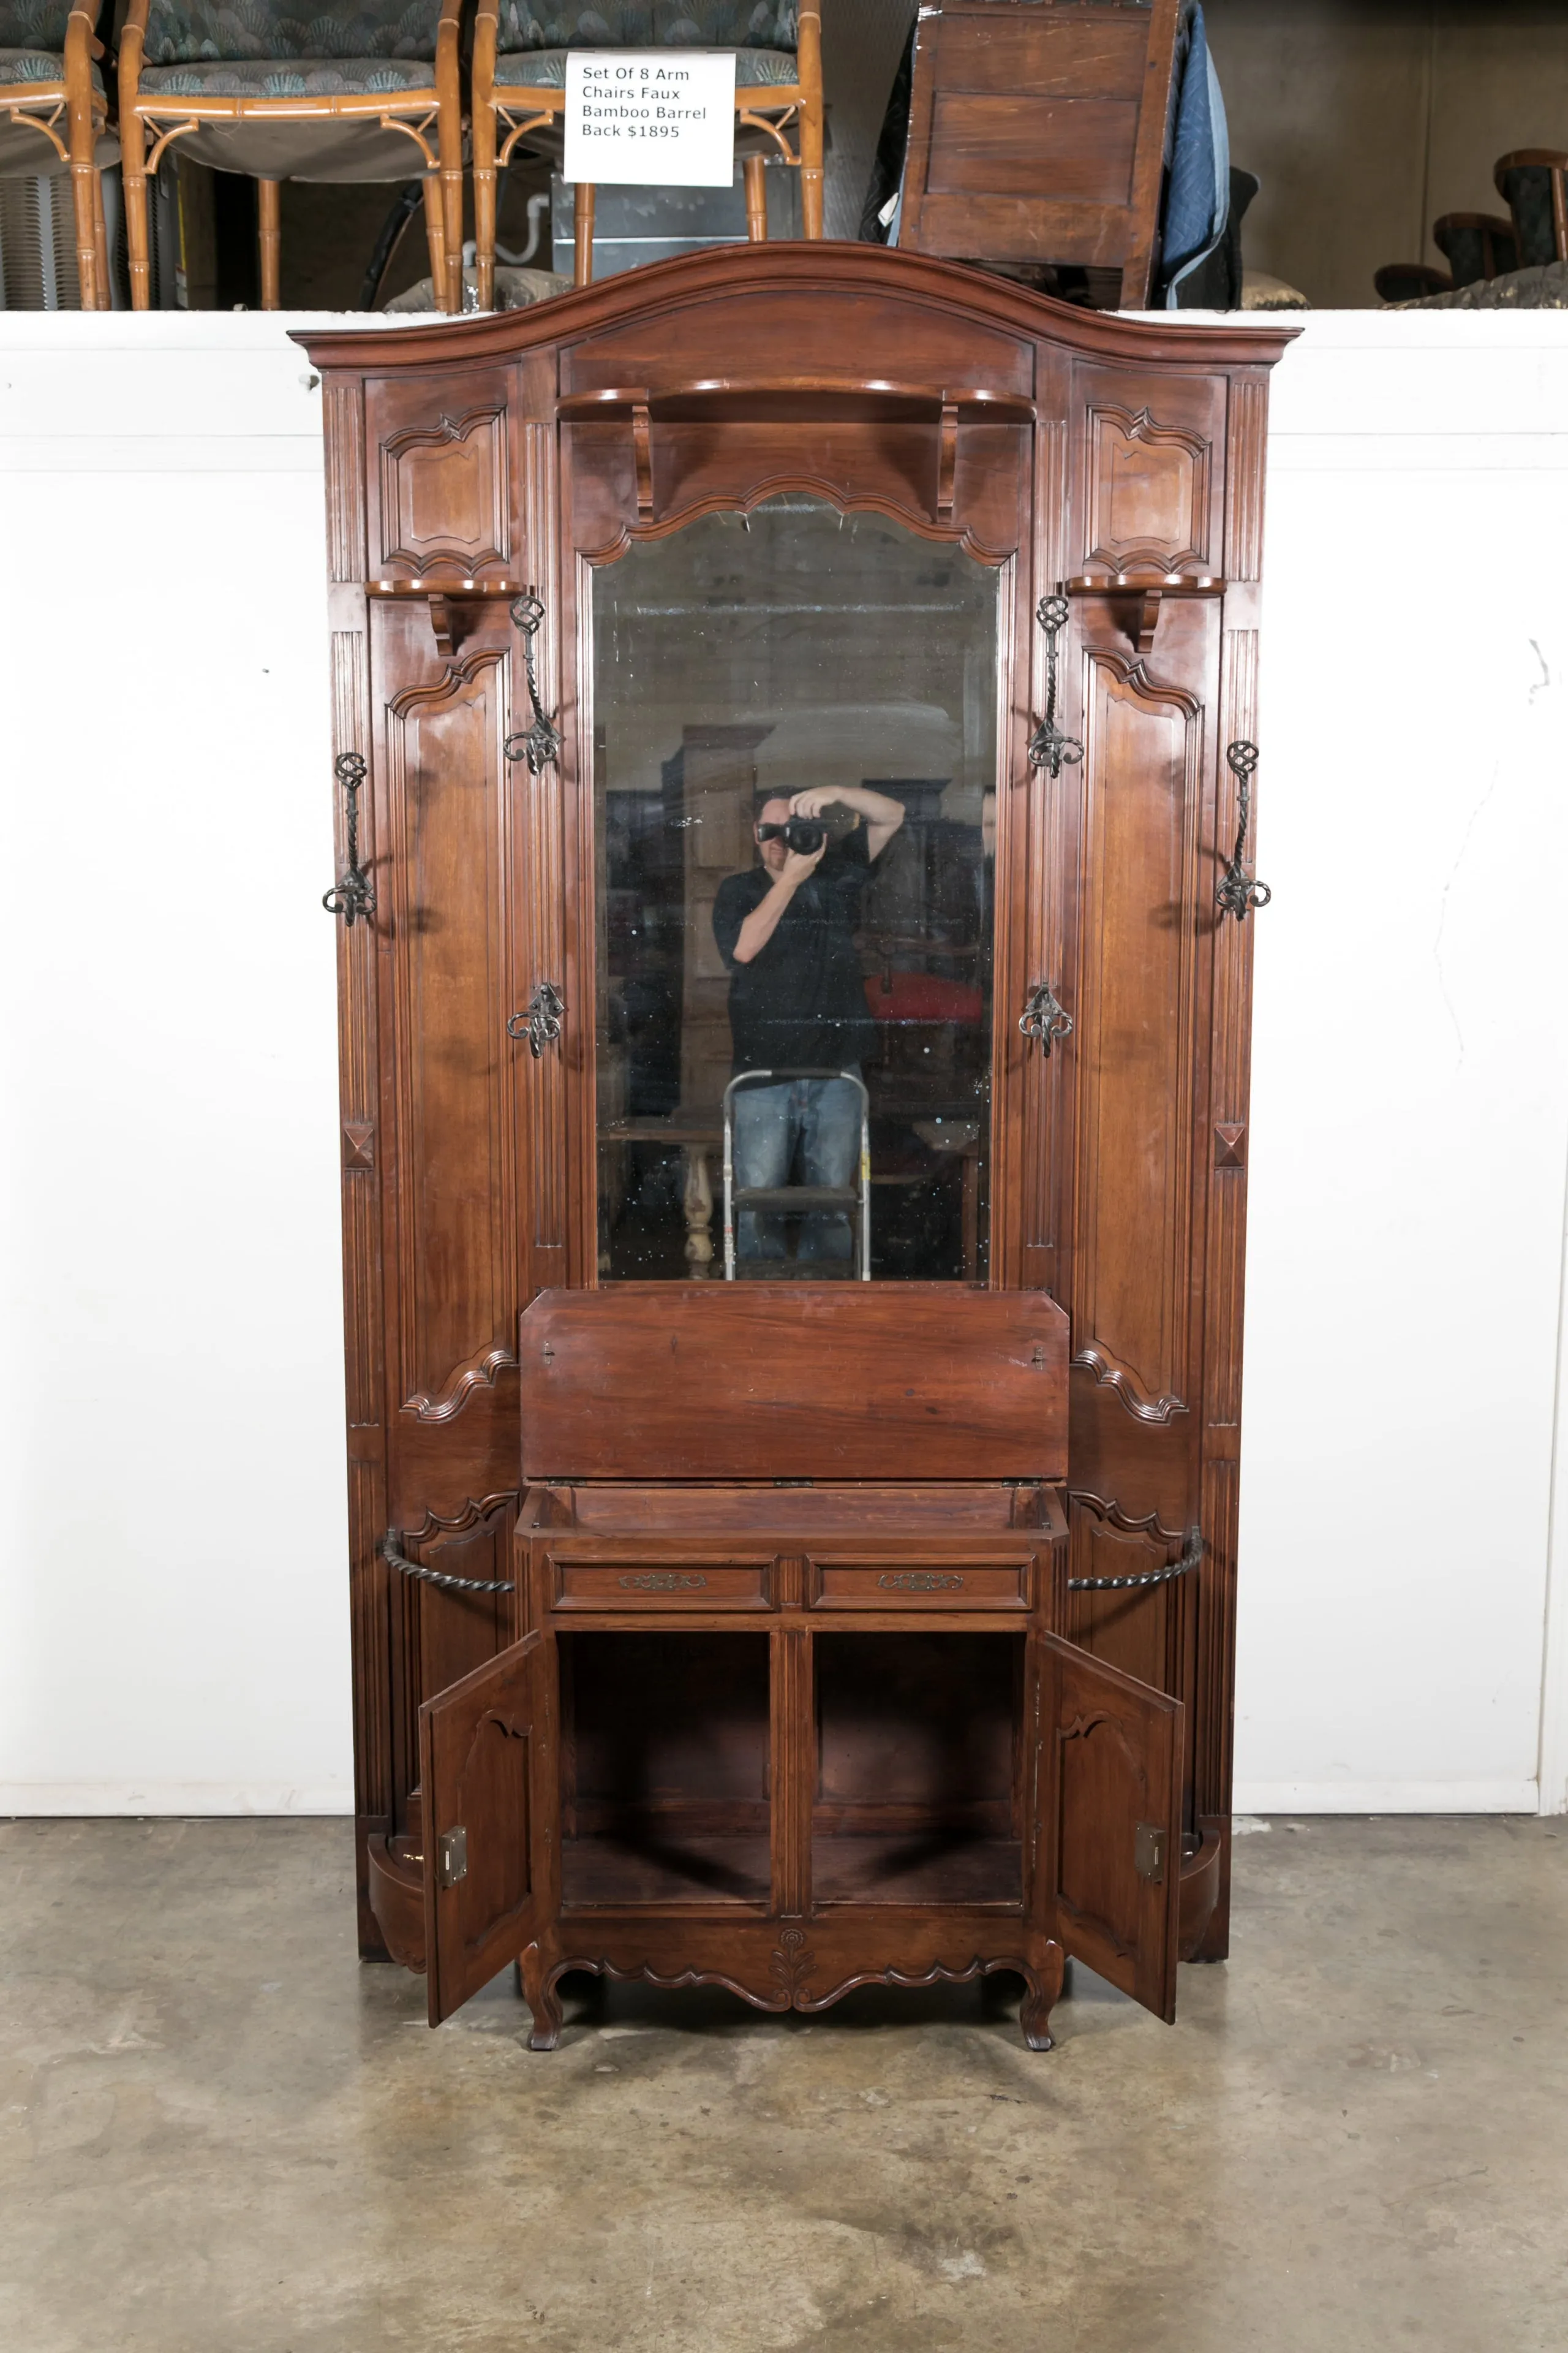
[[[1568,1824],[1276,1821],[1168,2028],[1079,1974],[531,2057],[336,1821],[0,1828],[12,2353],[1561,2353]],[[571,1988],[569,1988],[571,1991]]]

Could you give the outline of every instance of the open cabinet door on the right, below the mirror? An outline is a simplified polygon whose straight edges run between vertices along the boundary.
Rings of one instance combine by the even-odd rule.
[[[1065,1953],[1175,2017],[1182,1868],[1182,1706],[1039,1638],[1039,1835],[1046,1901]]]

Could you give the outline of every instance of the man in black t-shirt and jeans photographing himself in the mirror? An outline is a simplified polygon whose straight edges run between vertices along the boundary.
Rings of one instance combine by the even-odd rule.
[[[849,831],[827,812],[853,816]],[[877,1026],[865,1002],[856,925],[877,859],[903,826],[903,802],[867,786],[809,786],[776,793],[757,809],[752,835],[762,856],[726,875],[712,904],[712,936],[729,972],[731,1075],[745,1071],[849,1073],[780,1075],[741,1087],[733,1101],[736,1188],[799,1184],[851,1186],[860,1151],[860,1064]],[[743,1259],[785,1257],[783,1217],[741,1209],[736,1249]],[[802,1219],[797,1264],[846,1261],[849,1217],[811,1209]]]

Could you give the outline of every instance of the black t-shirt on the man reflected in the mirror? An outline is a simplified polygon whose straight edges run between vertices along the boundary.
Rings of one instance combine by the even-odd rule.
[[[846,1071],[870,1061],[877,1024],[856,955],[860,894],[872,859],[865,826],[830,842],[778,929],[750,965],[736,962],[741,925],[773,887],[766,866],[726,875],[712,901],[712,936],[729,967],[729,1033],[741,1071]]]

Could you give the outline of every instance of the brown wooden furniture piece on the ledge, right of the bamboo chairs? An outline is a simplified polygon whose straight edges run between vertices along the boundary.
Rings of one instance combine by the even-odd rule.
[[[1180,0],[922,7],[900,249],[1098,271],[1105,308],[1143,308],[1178,16]]]

